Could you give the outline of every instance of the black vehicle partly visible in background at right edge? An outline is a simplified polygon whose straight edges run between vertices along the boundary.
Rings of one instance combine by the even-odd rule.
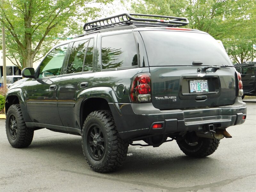
[[[241,73],[243,79],[244,96],[256,96],[256,62],[244,62],[235,65],[236,70]]]

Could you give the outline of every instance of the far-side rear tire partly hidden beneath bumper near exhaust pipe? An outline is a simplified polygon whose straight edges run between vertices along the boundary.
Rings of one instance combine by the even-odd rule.
[[[185,138],[177,140],[183,153],[191,157],[209,156],[218,148],[220,140],[200,137],[196,142],[188,142]]]

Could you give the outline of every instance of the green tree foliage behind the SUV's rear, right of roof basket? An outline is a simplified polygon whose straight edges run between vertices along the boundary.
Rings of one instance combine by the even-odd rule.
[[[187,17],[188,28],[205,31],[223,42],[234,62],[256,57],[256,2],[253,0],[145,0],[132,11]]]

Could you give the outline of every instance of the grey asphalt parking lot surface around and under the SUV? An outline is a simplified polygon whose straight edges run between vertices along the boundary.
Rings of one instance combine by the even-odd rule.
[[[244,100],[244,124],[227,131],[211,156],[185,156],[175,141],[158,148],[129,146],[124,165],[97,173],[84,159],[81,137],[35,131],[28,148],[12,148],[0,120],[0,191],[256,191],[256,99]]]

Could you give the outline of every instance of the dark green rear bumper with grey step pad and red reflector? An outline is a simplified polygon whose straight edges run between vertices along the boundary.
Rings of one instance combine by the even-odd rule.
[[[246,115],[246,104],[241,97],[233,105],[190,110],[160,111],[152,103],[109,103],[109,106],[117,131],[125,140],[142,135],[199,131],[210,124],[227,128],[243,124]],[[153,129],[155,123],[162,123],[163,128]]]

